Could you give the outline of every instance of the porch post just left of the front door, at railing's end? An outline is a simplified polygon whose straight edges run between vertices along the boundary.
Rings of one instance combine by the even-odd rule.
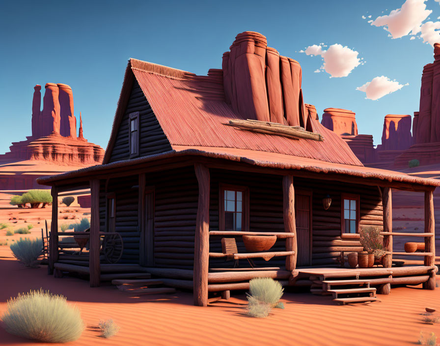
[[[293,176],[283,176],[283,219],[284,231],[294,233],[293,238],[286,238],[286,251],[295,251],[294,255],[286,257],[286,270],[292,271],[297,266],[298,243],[295,221],[295,190]]]

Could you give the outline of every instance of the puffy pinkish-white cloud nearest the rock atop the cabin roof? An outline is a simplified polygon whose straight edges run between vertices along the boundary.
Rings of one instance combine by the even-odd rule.
[[[321,69],[329,73],[331,77],[347,77],[360,64],[359,53],[340,44],[332,44],[326,51],[314,44],[305,49],[305,54],[320,55],[324,59]]]

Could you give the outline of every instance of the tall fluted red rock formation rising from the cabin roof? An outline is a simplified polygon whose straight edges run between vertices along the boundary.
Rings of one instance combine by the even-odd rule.
[[[230,52],[223,54],[222,70],[226,102],[235,112],[248,119],[306,127],[301,66],[268,47],[265,36],[239,33]]]

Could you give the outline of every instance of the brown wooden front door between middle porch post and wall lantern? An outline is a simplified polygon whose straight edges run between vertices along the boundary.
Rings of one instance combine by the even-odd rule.
[[[297,226],[298,256],[297,266],[311,265],[311,193],[298,192],[295,194],[295,216]]]

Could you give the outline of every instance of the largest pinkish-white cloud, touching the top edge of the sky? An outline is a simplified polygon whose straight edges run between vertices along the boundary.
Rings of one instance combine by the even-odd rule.
[[[392,38],[416,34],[422,22],[431,14],[426,9],[426,0],[406,0],[401,8],[392,10],[388,15],[377,17],[371,25],[386,27]]]

